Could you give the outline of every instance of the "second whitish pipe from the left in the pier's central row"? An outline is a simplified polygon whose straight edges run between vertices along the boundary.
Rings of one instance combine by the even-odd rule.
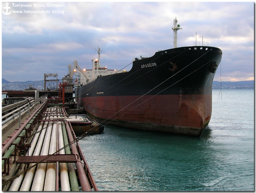
[[[47,125],[48,125],[48,122],[45,122],[43,128],[46,128]],[[43,142],[44,142],[45,133],[46,133],[46,129],[43,129],[41,131],[41,134],[40,134],[39,140],[37,142],[37,145],[36,145],[35,151],[33,153],[33,156],[40,155],[42,145],[43,145]],[[35,165],[35,163],[29,164],[29,167],[31,167],[33,165]],[[31,169],[29,169],[27,171],[27,173],[25,175],[25,178],[23,180],[23,183],[21,185],[20,191],[29,191],[30,190],[30,186],[31,186],[31,183],[32,183],[32,180],[33,180],[33,177],[34,177],[35,170],[36,170],[36,167],[32,167]]]

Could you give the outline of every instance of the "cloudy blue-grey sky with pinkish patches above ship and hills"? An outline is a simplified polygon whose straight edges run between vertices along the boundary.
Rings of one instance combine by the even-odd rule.
[[[222,50],[214,80],[254,80],[254,6],[254,2],[2,2],[2,78],[37,81],[44,79],[44,73],[57,73],[61,80],[74,60],[82,69],[92,69],[98,47],[101,65],[120,70],[135,57],[173,48],[176,17],[182,28],[178,47],[193,46],[203,38]]]

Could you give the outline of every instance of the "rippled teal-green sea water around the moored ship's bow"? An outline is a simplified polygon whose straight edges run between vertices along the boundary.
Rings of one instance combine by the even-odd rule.
[[[106,125],[80,140],[100,191],[254,191],[254,89],[213,89],[200,137]]]

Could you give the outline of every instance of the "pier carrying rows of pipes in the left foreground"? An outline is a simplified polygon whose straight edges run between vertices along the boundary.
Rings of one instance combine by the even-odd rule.
[[[21,107],[26,110],[18,110],[17,121],[13,114]],[[31,97],[3,108],[2,121],[10,120],[2,124],[2,191],[98,191],[79,145],[84,136],[103,131],[97,122],[70,117],[49,99],[37,103]]]

